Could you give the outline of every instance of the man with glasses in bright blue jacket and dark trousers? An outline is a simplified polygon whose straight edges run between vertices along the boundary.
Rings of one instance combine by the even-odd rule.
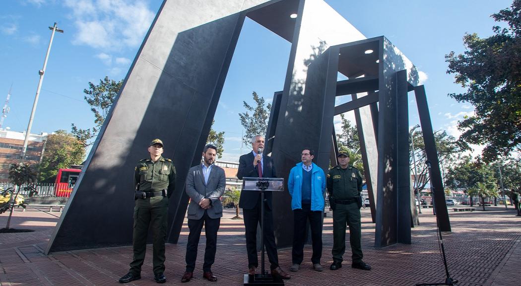
[[[300,268],[304,257],[304,240],[306,221],[309,219],[313,256],[311,262],[316,271],[324,268],[320,265],[322,256],[322,212],[324,212],[324,194],[326,192],[326,176],[324,170],[314,164],[314,152],[311,148],[302,150],[302,162],[290,171],[288,190],[291,195],[293,209],[293,266],[291,271]]]

